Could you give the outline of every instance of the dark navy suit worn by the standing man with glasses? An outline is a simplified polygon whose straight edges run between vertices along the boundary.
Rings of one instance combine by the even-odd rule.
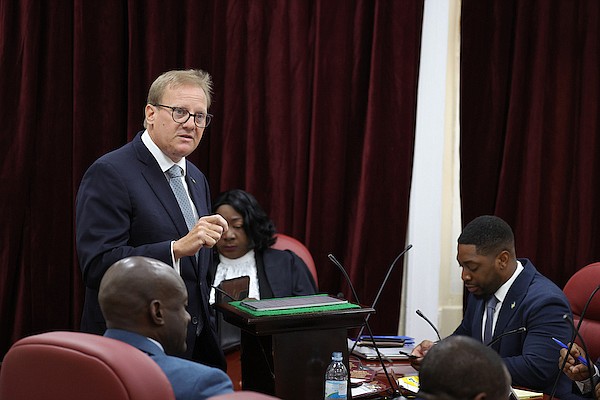
[[[76,236],[86,285],[81,321],[84,332],[102,334],[106,329],[98,304],[98,289],[113,263],[129,256],[146,256],[172,265],[171,241],[188,233],[169,182],[142,142],[141,134],[96,160],[79,186]],[[189,161],[186,181],[198,215],[208,215],[208,182]],[[195,257],[180,259],[181,276],[189,297],[187,310],[192,318],[184,356],[226,368],[208,307],[207,272],[211,260],[212,250],[206,248],[200,250],[198,261]],[[197,336],[201,344],[195,349]]]

